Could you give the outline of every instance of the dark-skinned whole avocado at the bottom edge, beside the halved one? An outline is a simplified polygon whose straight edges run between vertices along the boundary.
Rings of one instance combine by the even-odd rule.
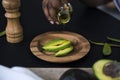
[[[65,71],[59,80],[96,80],[91,75],[81,69],[69,69]]]

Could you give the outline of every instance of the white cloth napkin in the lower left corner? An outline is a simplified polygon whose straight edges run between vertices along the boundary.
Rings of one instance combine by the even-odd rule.
[[[0,65],[0,80],[44,80],[27,68]]]

